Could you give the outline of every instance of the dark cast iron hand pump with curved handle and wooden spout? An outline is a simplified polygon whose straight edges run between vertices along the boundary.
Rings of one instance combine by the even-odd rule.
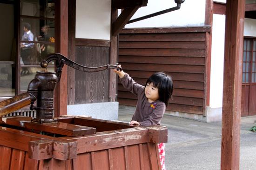
[[[53,60],[55,60],[56,72],[36,72],[34,79],[28,85],[26,93],[0,102],[0,117],[31,104],[30,109],[37,111],[36,118],[32,118],[32,122],[57,122],[54,119],[54,90],[61,79],[64,64],[82,72],[100,72],[110,68],[121,70],[121,67],[117,65],[103,65],[100,67],[79,65],[59,53],[47,55],[41,62],[41,67],[47,67],[48,63]],[[36,100],[37,105],[34,106]]]

